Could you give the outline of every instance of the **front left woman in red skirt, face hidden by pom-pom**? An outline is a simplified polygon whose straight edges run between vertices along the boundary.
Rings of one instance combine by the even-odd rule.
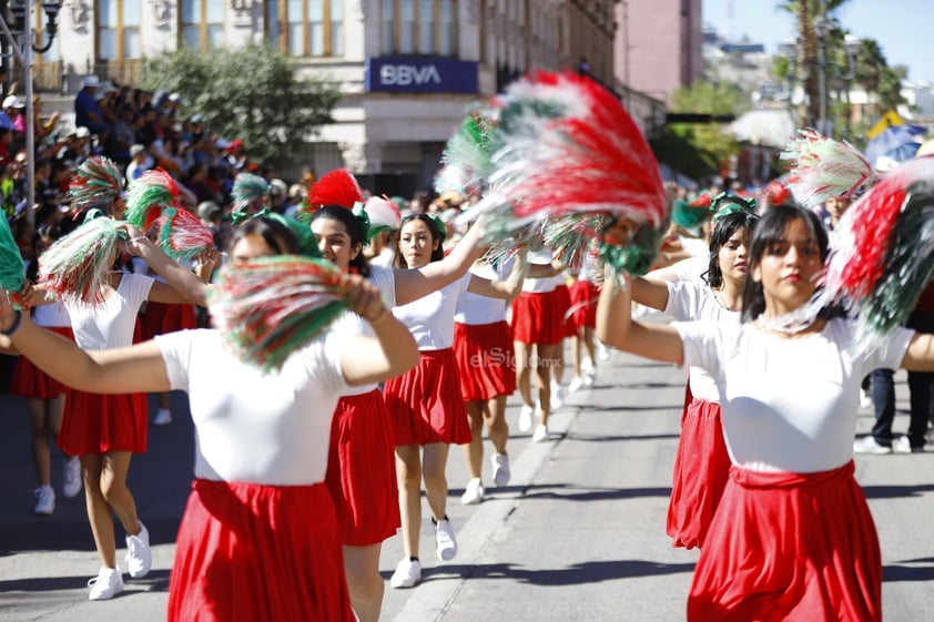
[[[158,257],[144,237],[129,245],[134,254]],[[255,217],[237,230],[231,256],[245,262],[301,251],[287,226]],[[196,479],[170,579],[171,622],[355,620],[324,485],[331,418],[349,386],[402,374],[418,354],[376,287],[358,276],[347,276],[345,286],[348,306],[375,337],[328,330],[273,371],[235,358],[214,329],[85,354],[41,335],[6,298],[0,303],[0,329],[12,345],[70,385],[189,394]]]

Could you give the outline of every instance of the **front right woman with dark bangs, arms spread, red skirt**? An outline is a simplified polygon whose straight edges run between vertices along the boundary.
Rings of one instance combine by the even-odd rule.
[[[860,383],[879,367],[934,369],[934,338],[895,329],[853,348],[850,320],[784,322],[812,298],[825,257],[818,217],[780,206],[753,233],[739,326],[642,324],[627,286],[608,279],[601,293],[603,341],[704,368],[720,389],[732,466],[694,571],[691,622],[881,620],[879,539],[853,478]]]

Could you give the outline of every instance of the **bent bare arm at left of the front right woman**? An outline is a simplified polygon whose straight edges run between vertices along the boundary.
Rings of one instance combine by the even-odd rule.
[[[632,319],[629,286],[618,286],[608,275],[597,305],[597,338],[610,347],[634,355],[681,365],[684,348],[671,326],[643,324]]]

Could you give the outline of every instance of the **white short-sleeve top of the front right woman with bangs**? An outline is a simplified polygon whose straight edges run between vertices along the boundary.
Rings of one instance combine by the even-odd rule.
[[[900,329],[861,353],[851,349],[854,324],[845,319],[791,339],[750,324],[674,326],[684,365],[705,368],[720,387],[733,463],[800,473],[850,461],[863,377],[873,369],[897,369],[914,335]]]

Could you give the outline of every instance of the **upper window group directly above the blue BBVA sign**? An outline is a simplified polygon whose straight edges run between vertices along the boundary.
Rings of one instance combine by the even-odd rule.
[[[457,53],[456,0],[383,0],[384,54]]]

